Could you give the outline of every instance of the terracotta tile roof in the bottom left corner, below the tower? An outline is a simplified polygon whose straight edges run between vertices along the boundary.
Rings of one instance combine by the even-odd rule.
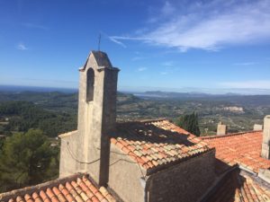
[[[81,174],[3,193],[0,194],[0,201],[115,202],[116,200],[107,189],[98,188],[87,175]]]

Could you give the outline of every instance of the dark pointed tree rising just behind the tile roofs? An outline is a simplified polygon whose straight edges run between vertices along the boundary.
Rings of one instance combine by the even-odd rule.
[[[201,131],[199,128],[198,114],[193,112],[192,114],[186,114],[176,121],[176,125],[183,127],[188,132],[195,136],[200,136]]]

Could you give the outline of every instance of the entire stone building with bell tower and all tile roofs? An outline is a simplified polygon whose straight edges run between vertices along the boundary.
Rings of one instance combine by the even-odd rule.
[[[60,178],[0,201],[270,201],[270,117],[264,131],[206,137],[166,119],[117,123],[119,69],[92,51],[79,71],[78,126],[60,135]]]

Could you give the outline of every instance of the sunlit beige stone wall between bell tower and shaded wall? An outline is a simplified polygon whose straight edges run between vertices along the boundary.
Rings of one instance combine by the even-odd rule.
[[[144,201],[144,186],[140,179],[146,174],[146,171],[142,168],[141,171],[137,162],[133,162],[115,145],[111,145],[108,185],[123,201]]]

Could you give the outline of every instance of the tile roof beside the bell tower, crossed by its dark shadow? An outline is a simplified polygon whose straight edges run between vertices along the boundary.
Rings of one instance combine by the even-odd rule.
[[[119,123],[111,143],[147,170],[211,150],[202,139],[165,119]]]

